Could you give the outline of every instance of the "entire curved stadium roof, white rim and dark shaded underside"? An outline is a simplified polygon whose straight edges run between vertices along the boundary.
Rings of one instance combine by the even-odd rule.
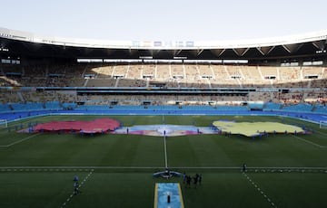
[[[55,51],[55,55],[71,58],[113,58],[140,59],[272,59],[276,57],[326,56],[327,30],[298,35],[252,39],[240,41],[101,41],[46,37],[34,33],[21,32],[0,27],[1,51],[28,49],[32,54],[43,50]],[[14,42],[13,42],[14,41]],[[15,47],[13,46],[15,43]],[[17,46],[23,43],[24,47]],[[12,45],[13,49],[9,49]],[[52,49],[49,48],[52,47]],[[46,50],[45,50],[46,51]],[[47,52],[41,52],[46,55]],[[54,52],[50,52],[54,54]],[[60,56],[60,55],[59,55]]]

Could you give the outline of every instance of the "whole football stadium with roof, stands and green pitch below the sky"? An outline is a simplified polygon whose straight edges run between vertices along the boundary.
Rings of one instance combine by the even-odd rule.
[[[327,31],[0,43],[1,207],[325,206]]]

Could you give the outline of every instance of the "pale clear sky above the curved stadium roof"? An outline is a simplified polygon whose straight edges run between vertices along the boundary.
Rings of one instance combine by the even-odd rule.
[[[326,0],[0,0],[0,27],[110,41],[224,41],[327,29]]]

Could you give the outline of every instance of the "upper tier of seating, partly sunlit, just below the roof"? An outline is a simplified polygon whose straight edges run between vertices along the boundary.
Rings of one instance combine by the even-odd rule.
[[[326,88],[324,67],[195,63],[2,65],[0,86],[167,88]],[[155,84],[153,84],[155,83]]]

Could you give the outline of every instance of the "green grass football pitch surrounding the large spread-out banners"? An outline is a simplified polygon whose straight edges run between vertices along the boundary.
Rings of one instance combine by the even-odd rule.
[[[134,125],[194,125],[215,120],[279,122],[310,134],[187,135],[17,133],[29,123],[114,118]],[[327,129],[294,118],[251,116],[49,116],[0,130],[0,207],[154,207],[156,183],[180,183],[183,205],[193,207],[325,207]],[[242,171],[247,165],[246,172]],[[182,177],[154,178],[168,165]],[[74,175],[80,193],[74,195]]]

